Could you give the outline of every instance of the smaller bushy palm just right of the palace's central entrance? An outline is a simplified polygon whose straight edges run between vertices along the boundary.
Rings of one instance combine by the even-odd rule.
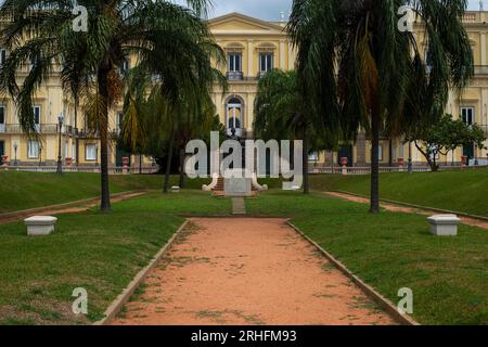
[[[256,119],[254,132],[265,140],[303,139],[304,193],[309,193],[308,155],[310,150],[330,150],[321,139],[332,141],[334,137],[318,137],[320,125],[313,123],[310,111],[299,93],[297,73],[272,69],[258,85],[255,102]]]

